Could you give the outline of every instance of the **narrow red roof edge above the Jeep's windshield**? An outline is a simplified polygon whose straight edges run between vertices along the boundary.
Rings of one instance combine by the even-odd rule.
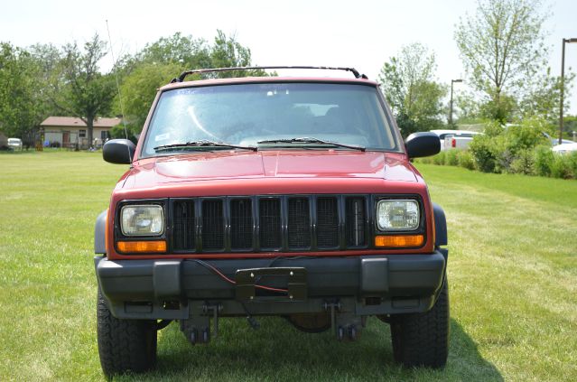
[[[233,79],[200,79],[192,81],[175,82],[164,85],[160,90],[206,87],[219,85],[235,85],[248,83],[274,83],[274,82],[321,82],[321,83],[346,83],[377,87],[378,83],[370,79],[351,79],[337,77],[240,77]]]

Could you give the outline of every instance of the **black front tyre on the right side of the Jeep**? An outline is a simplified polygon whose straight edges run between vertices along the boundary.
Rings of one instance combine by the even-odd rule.
[[[406,367],[443,368],[449,354],[449,291],[442,285],[429,312],[391,316],[391,340],[397,362]]]

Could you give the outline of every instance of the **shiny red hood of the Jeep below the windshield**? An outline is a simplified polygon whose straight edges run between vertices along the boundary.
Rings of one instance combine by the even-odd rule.
[[[180,154],[137,161],[126,175],[125,189],[231,178],[368,178],[418,182],[404,154],[336,150]]]

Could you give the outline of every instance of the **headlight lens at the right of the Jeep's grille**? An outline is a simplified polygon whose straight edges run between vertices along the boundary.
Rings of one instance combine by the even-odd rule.
[[[380,200],[377,203],[377,226],[381,231],[419,228],[419,203],[416,200]]]

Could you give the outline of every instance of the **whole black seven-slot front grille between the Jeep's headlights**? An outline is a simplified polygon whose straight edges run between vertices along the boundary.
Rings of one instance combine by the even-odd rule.
[[[367,202],[368,196],[329,195],[172,200],[172,250],[290,252],[367,247]]]

